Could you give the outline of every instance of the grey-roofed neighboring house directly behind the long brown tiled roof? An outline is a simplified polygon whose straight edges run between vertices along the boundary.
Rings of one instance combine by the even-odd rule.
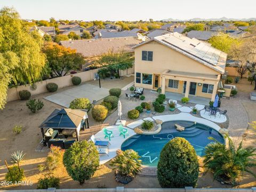
[[[119,37],[134,37],[141,41],[147,41],[149,38],[147,36],[141,35],[139,33],[133,33],[129,31],[122,32],[111,32],[111,31],[101,31],[98,35],[95,35],[95,39],[98,38],[119,38]]]

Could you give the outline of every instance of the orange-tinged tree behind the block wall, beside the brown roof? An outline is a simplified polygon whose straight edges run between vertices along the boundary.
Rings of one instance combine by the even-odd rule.
[[[69,70],[81,68],[85,63],[81,53],[57,43],[45,43],[43,52],[46,54],[47,65],[58,77],[65,76]]]

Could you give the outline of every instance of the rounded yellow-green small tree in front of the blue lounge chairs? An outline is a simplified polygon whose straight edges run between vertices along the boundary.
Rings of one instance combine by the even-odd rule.
[[[79,181],[80,185],[92,177],[99,167],[99,162],[98,150],[91,141],[75,142],[63,156],[69,176]]]

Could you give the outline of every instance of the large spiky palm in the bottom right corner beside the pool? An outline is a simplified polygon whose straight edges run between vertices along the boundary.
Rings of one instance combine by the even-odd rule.
[[[228,137],[228,146],[214,140],[215,142],[209,143],[205,147],[205,167],[207,170],[213,172],[214,179],[221,179],[235,185],[236,179],[243,174],[243,172],[251,173],[254,177],[252,171],[249,167],[256,166],[256,156],[254,153],[256,148],[243,148],[242,142],[239,143],[237,149],[235,149],[234,142]]]

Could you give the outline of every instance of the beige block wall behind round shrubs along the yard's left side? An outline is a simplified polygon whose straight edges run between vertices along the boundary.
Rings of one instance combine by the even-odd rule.
[[[94,73],[97,73],[99,69],[84,71],[84,72],[81,72],[81,73],[73,74],[72,76],[81,77],[82,83],[87,82],[87,81],[91,81],[91,80],[93,80]],[[129,74],[132,74],[132,73],[134,73],[134,67],[132,67],[131,69],[119,71],[120,76],[125,76],[125,75],[129,75]],[[36,94],[39,94],[39,93],[45,93],[45,92],[47,92],[46,85],[48,83],[56,83],[59,86],[59,89],[61,89],[63,87],[66,87],[66,86],[73,85],[72,81],[71,81],[72,76],[71,75],[66,75],[66,76],[63,76],[63,77],[46,79],[44,81],[37,82],[37,83],[35,83],[35,85],[37,86],[36,90],[31,90],[30,84],[20,85],[20,86],[17,86],[17,87],[10,88],[7,91],[7,102],[20,99],[19,91],[22,91],[22,90],[28,90],[31,93],[31,95],[36,95]]]

